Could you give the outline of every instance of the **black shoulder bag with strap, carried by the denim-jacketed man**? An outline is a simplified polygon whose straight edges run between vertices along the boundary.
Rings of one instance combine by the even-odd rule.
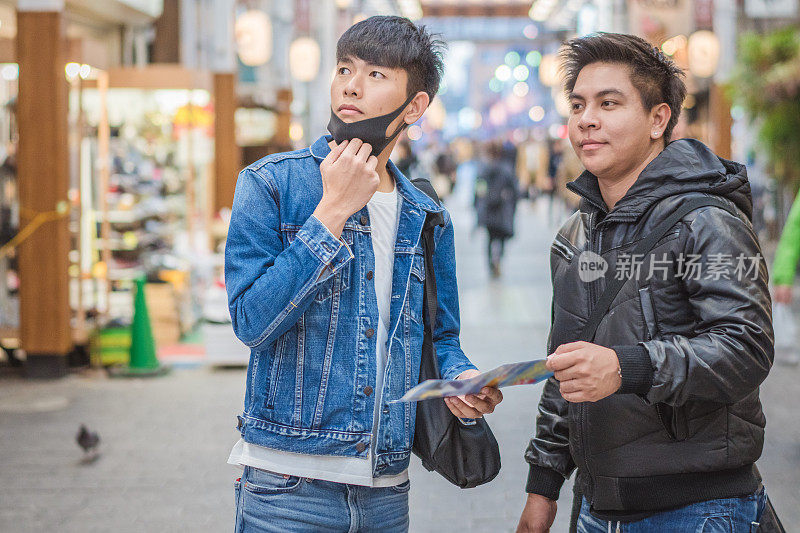
[[[428,180],[417,179],[412,183],[439,203],[438,195]],[[441,379],[433,344],[433,325],[436,323],[438,306],[433,272],[433,229],[442,223],[441,214],[428,215],[422,230],[425,250],[425,337],[420,383],[427,379]],[[412,451],[428,471],[435,470],[462,489],[488,483],[500,472],[500,449],[486,420],[478,418],[474,424],[463,424],[450,412],[442,398],[417,403]]]

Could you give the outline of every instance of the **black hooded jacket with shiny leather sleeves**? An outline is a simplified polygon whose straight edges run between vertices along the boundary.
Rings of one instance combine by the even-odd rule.
[[[623,286],[594,339],[617,352],[617,393],[570,404],[557,381],[545,384],[525,454],[528,492],[557,497],[576,466],[584,495],[601,512],[753,492],[765,426],[758,387],[772,365],[773,332],[744,166],[684,139],[670,143],[610,212],[590,173],[569,188],[582,202],[551,248],[548,353],[580,340],[604,290],[602,277],[581,280],[581,253],[599,254],[615,270],[631,263],[624,254],[695,196],[722,197],[740,216],[716,206],[689,213]]]

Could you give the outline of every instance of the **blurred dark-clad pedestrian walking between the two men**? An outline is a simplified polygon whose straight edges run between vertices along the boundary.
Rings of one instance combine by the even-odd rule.
[[[514,236],[514,217],[519,200],[519,184],[499,142],[490,143],[486,166],[478,177],[480,196],[476,198],[479,223],[488,233],[486,257],[492,277],[500,276],[500,263],[506,240]]]

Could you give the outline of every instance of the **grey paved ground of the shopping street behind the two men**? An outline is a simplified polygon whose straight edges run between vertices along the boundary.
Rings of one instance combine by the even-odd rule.
[[[504,276],[489,282],[484,239],[454,209],[463,345],[482,368],[542,357],[550,307],[553,229],[521,206]],[[800,369],[776,366],[762,398],[767,443],[759,467],[789,530],[800,523]],[[72,375],[57,382],[0,378],[0,532],[230,531],[244,371],[176,369],[153,380]],[[541,385],[506,389],[489,418],[503,470],[489,486],[461,491],[412,464],[414,532],[513,531],[524,502],[522,452]],[[81,423],[99,431],[102,455],[80,463]],[[566,531],[568,488],[554,531]]]

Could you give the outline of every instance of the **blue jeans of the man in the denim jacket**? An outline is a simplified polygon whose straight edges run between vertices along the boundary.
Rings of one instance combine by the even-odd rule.
[[[235,533],[406,533],[409,486],[360,487],[246,466],[235,484]]]

